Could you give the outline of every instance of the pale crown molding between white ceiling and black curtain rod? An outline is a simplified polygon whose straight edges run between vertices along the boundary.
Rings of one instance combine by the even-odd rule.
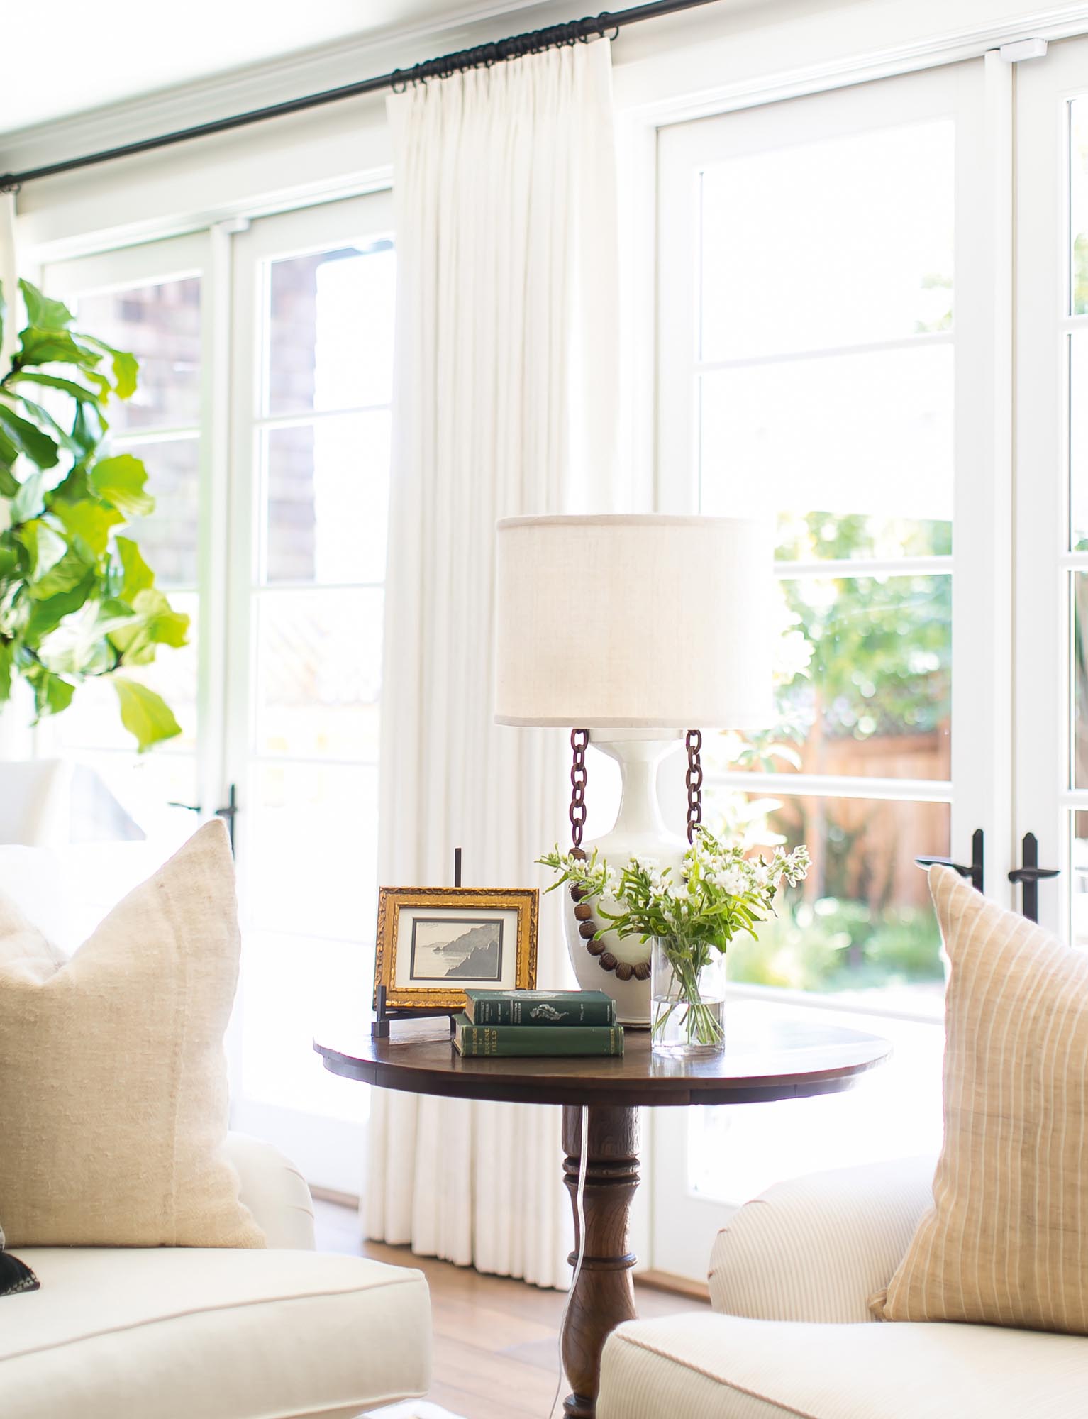
[[[566,4],[557,0],[465,4],[438,23],[335,40],[118,104],[10,129],[0,133],[0,170],[38,167],[99,148],[153,138],[177,128],[353,84],[370,74],[409,68],[435,54],[504,38],[511,33],[511,16],[518,11],[525,11],[523,28],[539,28],[569,18],[569,0]]]

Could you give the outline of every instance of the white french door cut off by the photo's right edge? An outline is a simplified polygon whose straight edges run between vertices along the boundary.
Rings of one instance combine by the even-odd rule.
[[[1088,946],[1088,40],[1023,64],[1017,158],[1016,841]],[[1023,891],[1023,888],[1021,888]]]

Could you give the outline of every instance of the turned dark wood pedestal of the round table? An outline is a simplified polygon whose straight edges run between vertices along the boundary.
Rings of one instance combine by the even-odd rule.
[[[590,1104],[586,1152],[586,1256],[570,1297],[562,1348],[563,1368],[574,1386],[563,1402],[570,1419],[593,1419],[600,1389],[604,1341],[623,1321],[635,1318],[627,1218],[638,1186],[638,1110]],[[563,1105],[563,1175],[574,1209],[574,1250],[580,1243],[577,1178],[582,1156],[582,1108]]]

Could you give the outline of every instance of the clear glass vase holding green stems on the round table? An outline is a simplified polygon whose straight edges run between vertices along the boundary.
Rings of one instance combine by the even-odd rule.
[[[650,1030],[655,1054],[685,1057],[725,1049],[725,954],[706,944],[654,941]]]

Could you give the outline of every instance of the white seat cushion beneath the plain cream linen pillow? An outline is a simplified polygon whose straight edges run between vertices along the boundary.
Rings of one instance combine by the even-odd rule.
[[[430,1384],[420,1271],[315,1252],[21,1254],[41,1290],[0,1303],[4,1419],[346,1419]]]

